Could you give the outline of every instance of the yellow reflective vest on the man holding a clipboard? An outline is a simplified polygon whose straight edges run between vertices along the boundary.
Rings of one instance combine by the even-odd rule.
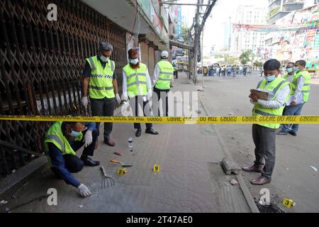
[[[265,89],[273,94],[272,100],[276,99],[276,95],[280,89],[289,85],[289,82],[286,82],[285,79],[276,78],[273,82],[269,84],[266,83],[266,80],[259,82],[257,89]],[[286,101],[288,101],[289,95],[286,97]],[[281,116],[284,111],[284,106],[279,107],[278,109],[269,109],[264,108],[260,104],[255,104],[254,109],[252,110],[253,116]],[[259,123],[260,126],[264,126],[267,128],[279,128],[280,124],[278,123]]]

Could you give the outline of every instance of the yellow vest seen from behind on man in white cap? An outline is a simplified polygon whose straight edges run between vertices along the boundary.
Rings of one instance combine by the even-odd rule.
[[[171,88],[171,82],[174,77],[174,67],[167,61],[160,61],[157,63],[159,67],[159,78],[155,84],[157,89],[167,90]]]

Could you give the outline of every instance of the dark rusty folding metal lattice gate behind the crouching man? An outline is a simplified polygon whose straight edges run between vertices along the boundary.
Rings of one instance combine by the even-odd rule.
[[[47,20],[49,4],[57,5],[57,21]],[[0,23],[1,115],[84,114],[82,71],[99,41],[113,44],[118,75],[127,62],[125,30],[81,1],[0,1]],[[121,92],[121,77],[118,84]],[[0,176],[44,152],[48,126],[0,121]]]

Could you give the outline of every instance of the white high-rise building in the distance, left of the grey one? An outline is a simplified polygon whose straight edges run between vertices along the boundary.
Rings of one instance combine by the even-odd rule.
[[[236,13],[237,24],[266,24],[267,9],[261,6],[239,6]],[[252,50],[256,52],[264,47],[264,33],[255,31],[237,32],[234,30],[233,51]]]

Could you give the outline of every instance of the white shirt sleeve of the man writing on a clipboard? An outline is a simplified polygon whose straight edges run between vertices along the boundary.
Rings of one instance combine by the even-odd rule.
[[[267,84],[269,84],[269,82],[267,82]],[[281,106],[284,106],[286,104],[286,98],[287,96],[289,96],[289,93],[290,93],[290,86],[287,84],[286,86],[284,86],[282,89],[280,89],[277,92],[275,100],[258,99],[257,102],[264,108],[279,109]],[[252,101],[252,99],[250,99],[250,102],[252,104],[256,104],[255,102]]]

